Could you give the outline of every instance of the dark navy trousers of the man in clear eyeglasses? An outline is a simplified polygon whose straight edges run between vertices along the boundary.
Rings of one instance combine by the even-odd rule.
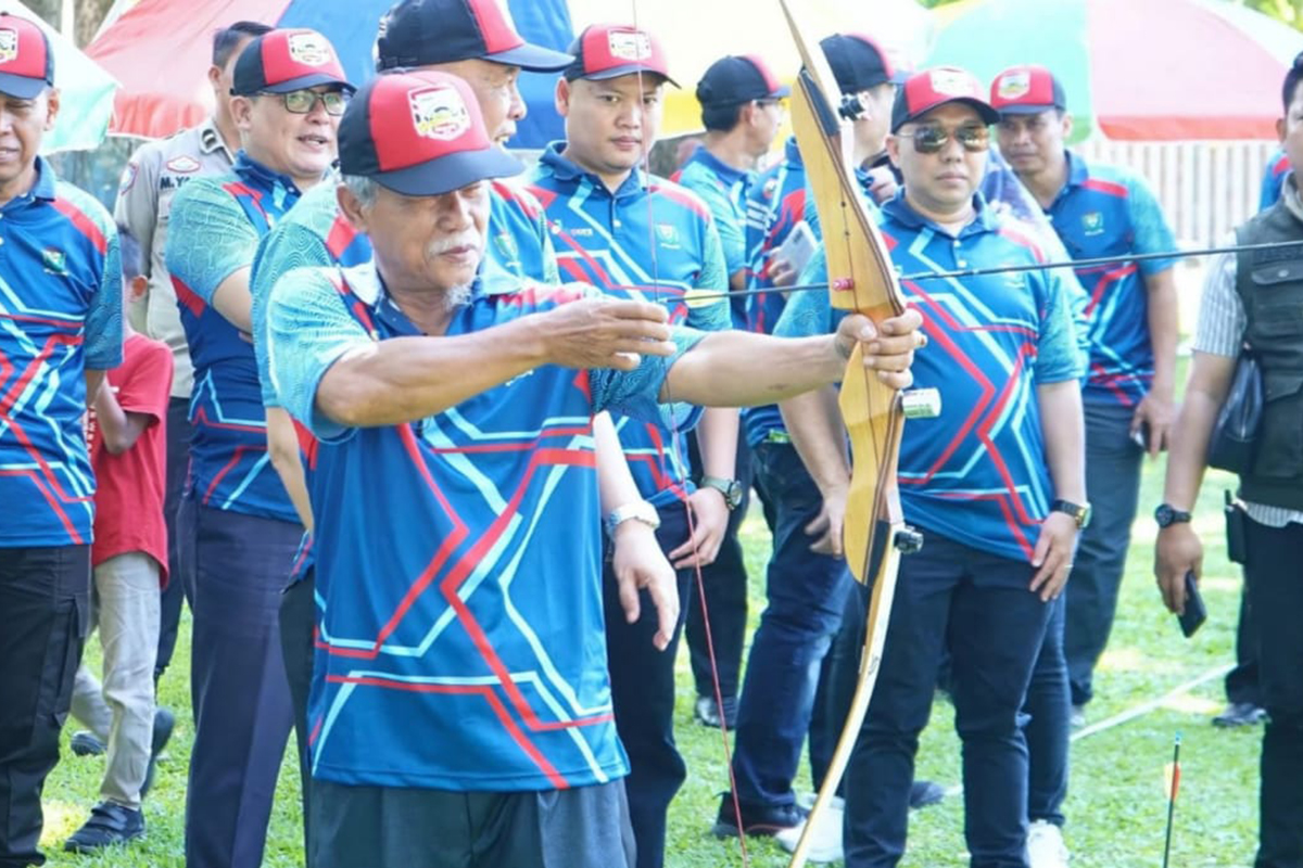
[[[177,524],[194,580],[185,863],[257,868],[293,724],[279,614],[304,528],[193,497]]]

